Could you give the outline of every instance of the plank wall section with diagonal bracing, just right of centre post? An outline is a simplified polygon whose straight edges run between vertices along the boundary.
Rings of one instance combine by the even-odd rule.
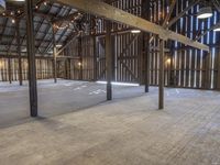
[[[112,6],[122,9],[129,13],[141,16],[141,0],[119,0]],[[112,35],[113,42],[113,59],[114,59],[114,80],[139,82],[141,80],[139,68],[142,59],[142,37],[141,34],[132,34],[131,28],[113,23],[112,31],[128,30],[125,33],[117,33]]]

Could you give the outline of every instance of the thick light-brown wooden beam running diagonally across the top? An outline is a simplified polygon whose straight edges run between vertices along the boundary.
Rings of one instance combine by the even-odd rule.
[[[133,14],[130,14],[123,10],[109,6],[105,2],[97,0],[55,0],[55,2],[70,6],[73,8],[77,8],[79,10],[89,12],[95,15],[103,16],[107,20],[111,20],[114,22],[123,23],[135,29],[140,29],[144,32],[153,33],[160,35],[161,38],[169,38],[173,41],[177,41],[185,45],[189,45],[191,47],[204,50],[209,52],[209,47],[205,44],[195,42],[184,35],[177,34],[173,31],[165,30],[163,26],[160,26],[155,23],[146,21],[144,19],[138,18]]]

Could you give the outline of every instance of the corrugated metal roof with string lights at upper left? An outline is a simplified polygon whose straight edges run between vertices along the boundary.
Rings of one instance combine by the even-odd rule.
[[[41,1],[35,1],[37,8],[34,9],[34,32],[35,32],[35,47],[38,54],[47,54],[52,50],[53,45],[53,31],[51,21],[57,21],[74,14],[76,9],[61,6],[57,3],[46,4]],[[16,23],[13,23],[13,18],[20,18],[20,42],[22,50],[25,50],[26,45],[26,21],[23,13],[23,7],[14,3],[8,3],[6,15],[0,16],[0,53],[16,52]],[[11,14],[13,12],[13,14]],[[81,19],[81,18],[80,18]],[[55,38],[57,44],[66,43],[68,36],[73,35],[73,32],[79,31],[76,22],[62,21],[57,22],[61,29],[55,30]]]

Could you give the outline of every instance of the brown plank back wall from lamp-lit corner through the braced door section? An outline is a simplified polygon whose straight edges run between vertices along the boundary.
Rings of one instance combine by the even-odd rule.
[[[141,0],[119,0],[112,6],[123,9],[135,15],[141,15]],[[102,18],[95,18],[92,36],[82,36],[82,80],[106,79],[106,53],[105,53],[105,33],[106,21]],[[141,36],[139,34],[131,34],[130,28],[124,24],[112,23],[112,56],[114,66],[113,80],[117,81],[139,81],[139,63],[141,56]],[[117,33],[114,33],[117,32]],[[138,36],[136,36],[138,35]],[[96,37],[94,40],[94,37]],[[78,53],[79,40],[72,43],[67,48],[65,55],[79,57]],[[95,55],[96,42],[96,55]],[[78,61],[79,62],[79,61]],[[77,61],[72,63],[72,79],[79,79],[78,73],[80,67],[77,66]],[[73,66],[74,65],[74,66]],[[96,74],[94,73],[95,65],[97,65]]]

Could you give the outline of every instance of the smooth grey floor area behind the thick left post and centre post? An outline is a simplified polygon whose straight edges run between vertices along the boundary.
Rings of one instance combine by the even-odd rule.
[[[54,117],[81,110],[106,101],[106,85],[87,81],[59,79],[38,80],[38,114]],[[114,98],[129,98],[143,95],[142,87],[114,86]],[[9,101],[10,100],[10,101]],[[30,121],[28,81],[0,82],[0,128]]]

